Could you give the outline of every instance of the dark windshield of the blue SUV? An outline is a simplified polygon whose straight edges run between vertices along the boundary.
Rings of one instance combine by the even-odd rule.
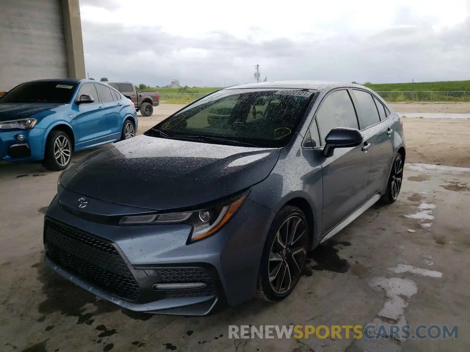
[[[17,85],[0,103],[69,103],[78,83],[69,81],[26,82]]]

